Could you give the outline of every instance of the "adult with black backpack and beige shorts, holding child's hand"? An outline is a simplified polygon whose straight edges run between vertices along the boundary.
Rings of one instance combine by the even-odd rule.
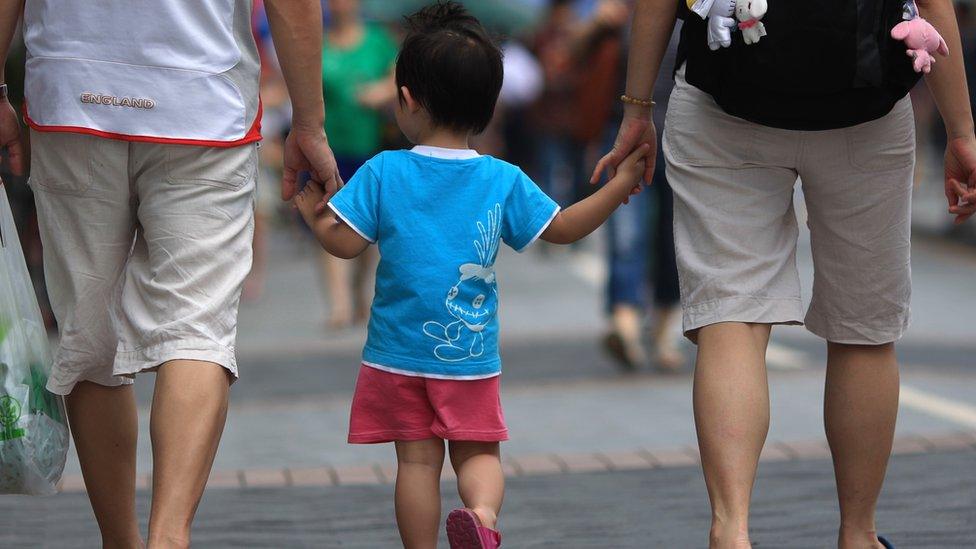
[[[749,502],[769,426],[770,329],[805,322],[828,346],[824,416],[838,545],[880,548],[874,511],[898,409],[894,342],[908,326],[911,291],[915,128],[906,96],[917,76],[889,34],[904,5],[770,0],[758,44],[734,32],[730,47],[713,51],[708,23],[681,4],[664,151],[684,329],[698,344],[695,421],[711,546],[750,546]],[[636,103],[652,97],[678,7],[637,2],[631,104],[594,178],[641,143],[654,145],[649,106]],[[958,27],[950,0],[919,0],[918,8],[951,51],[926,80],[948,132],[949,213],[962,222],[976,212],[976,137]],[[795,266],[798,177],[816,271],[805,317]]]

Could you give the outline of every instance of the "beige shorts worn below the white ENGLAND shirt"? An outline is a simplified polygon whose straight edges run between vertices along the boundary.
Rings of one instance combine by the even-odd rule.
[[[32,132],[30,183],[61,343],[48,388],[114,386],[171,360],[235,377],[251,269],[255,145]]]

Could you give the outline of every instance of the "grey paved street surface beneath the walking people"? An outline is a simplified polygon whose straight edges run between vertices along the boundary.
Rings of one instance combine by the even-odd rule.
[[[196,546],[396,547],[392,450],[345,443],[362,330],[326,333],[307,248],[277,244],[268,293],[242,311],[243,375]],[[900,549],[976,547],[976,340],[958,298],[976,257],[923,242],[914,263],[916,323],[899,346],[901,409],[880,526]],[[703,547],[708,505],[695,463],[691,368],[622,374],[605,356],[599,268],[598,250],[503,257],[506,547]],[[808,264],[802,272],[809,281]],[[684,350],[690,358],[693,349]],[[772,423],[754,508],[759,547],[833,546],[824,359],[823,343],[802,329],[774,332]],[[152,381],[136,384],[144,519]],[[52,498],[0,498],[0,548],[96,547],[73,450],[64,488]],[[448,495],[445,507],[456,504]]]

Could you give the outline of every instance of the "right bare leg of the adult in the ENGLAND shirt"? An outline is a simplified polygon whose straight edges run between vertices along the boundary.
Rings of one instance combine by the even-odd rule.
[[[153,496],[149,547],[189,547],[190,527],[227,418],[230,376],[220,365],[174,360],[159,367],[149,430]]]

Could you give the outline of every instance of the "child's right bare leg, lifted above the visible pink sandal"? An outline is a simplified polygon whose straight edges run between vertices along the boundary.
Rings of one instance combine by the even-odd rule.
[[[452,440],[450,446],[461,501],[478,515],[482,526],[495,529],[505,496],[498,443]]]

